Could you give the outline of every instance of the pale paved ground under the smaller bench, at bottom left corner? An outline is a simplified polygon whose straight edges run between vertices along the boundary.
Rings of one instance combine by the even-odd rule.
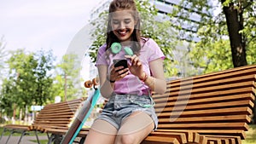
[[[47,136],[38,136],[38,137],[39,137],[39,140],[47,140]],[[3,136],[3,138],[0,141],[0,144],[5,144],[7,139],[8,139],[8,136]],[[11,136],[11,138],[8,141],[8,144],[16,144],[18,143],[19,139],[20,139],[20,136]],[[29,135],[23,136],[20,144],[37,144],[37,142],[32,142],[30,140],[37,141],[37,138],[36,136],[29,136]]]

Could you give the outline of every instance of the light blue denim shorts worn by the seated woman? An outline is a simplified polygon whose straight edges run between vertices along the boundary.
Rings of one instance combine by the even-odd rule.
[[[132,112],[138,111],[147,113],[153,119],[156,130],[158,118],[154,111],[154,101],[148,95],[112,95],[96,119],[105,120],[119,130],[122,121]]]

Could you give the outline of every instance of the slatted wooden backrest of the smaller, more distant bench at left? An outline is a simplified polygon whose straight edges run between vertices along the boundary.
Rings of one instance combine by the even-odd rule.
[[[34,127],[68,127],[84,98],[46,105],[35,118]]]

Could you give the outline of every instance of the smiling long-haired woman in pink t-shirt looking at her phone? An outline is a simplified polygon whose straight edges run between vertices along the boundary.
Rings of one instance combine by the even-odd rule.
[[[96,61],[101,94],[108,103],[92,124],[86,144],[138,144],[157,127],[151,91],[166,91],[165,55],[153,39],[141,37],[140,22],[133,0],[110,3],[107,40]],[[125,53],[127,48],[133,54]],[[120,59],[128,66],[114,66]]]

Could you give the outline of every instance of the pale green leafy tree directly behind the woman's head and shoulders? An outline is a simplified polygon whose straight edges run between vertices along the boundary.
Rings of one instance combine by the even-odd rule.
[[[143,37],[153,38],[166,55],[166,60],[164,60],[166,77],[177,75],[177,61],[173,58],[173,50],[176,49],[179,41],[176,32],[170,27],[170,21],[152,19],[156,18],[157,9],[148,0],[136,2],[142,20]],[[91,21],[91,24],[96,27],[91,32],[92,37],[95,37],[95,41],[90,46],[90,58],[93,62],[96,61],[97,49],[106,43],[107,20],[108,11],[103,11],[96,20]]]

